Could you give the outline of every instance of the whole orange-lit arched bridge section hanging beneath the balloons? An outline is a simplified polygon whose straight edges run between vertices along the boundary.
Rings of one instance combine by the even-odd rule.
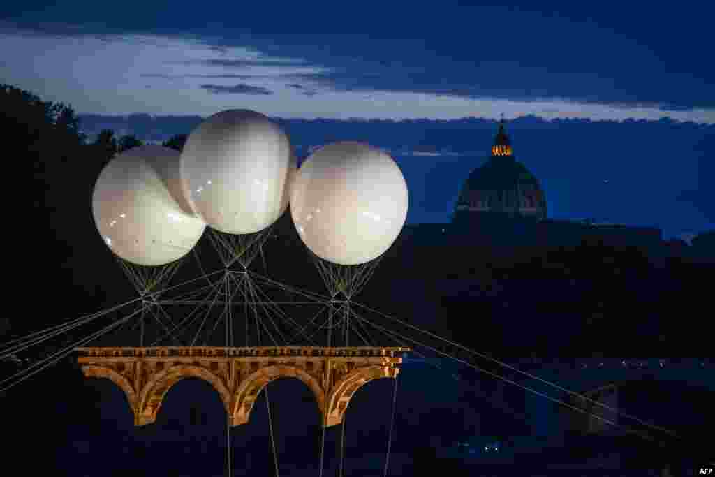
[[[408,348],[77,348],[87,378],[107,378],[127,395],[134,425],[152,423],[167,390],[182,378],[207,380],[230,416],[247,423],[261,390],[297,378],[315,395],[323,426],[335,426],[360,386],[395,378]]]

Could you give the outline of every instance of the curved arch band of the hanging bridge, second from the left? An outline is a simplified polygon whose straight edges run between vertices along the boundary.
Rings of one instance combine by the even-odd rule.
[[[184,378],[206,380],[219,393],[225,410],[230,409],[230,392],[217,375],[197,365],[173,365],[152,375],[139,394],[139,403],[135,413],[135,424],[142,426],[157,420],[157,413],[169,388]]]

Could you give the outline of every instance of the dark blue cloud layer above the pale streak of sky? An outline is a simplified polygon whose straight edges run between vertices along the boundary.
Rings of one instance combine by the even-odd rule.
[[[336,23],[329,9],[317,5],[282,7],[289,10],[277,18],[247,13],[266,6],[241,4],[222,10],[222,18],[232,19],[229,27],[207,18],[215,15],[211,9],[162,16],[145,3],[127,0],[127,8],[112,18],[117,25],[113,28],[102,24],[103,11],[64,4],[24,15],[34,22],[22,24],[41,35],[130,34],[132,41],[139,33],[159,31],[159,26],[164,36],[202,41],[207,54],[192,58],[194,66],[315,67],[325,71],[306,72],[303,79],[337,92],[523,102],[558,99],[626,108],[668,105],[662,111],[715,108],[714,69],[703,60],[709,57],[706,26],[711,15],[698,13],[696,6],[667,14],[651,9],[649,21],[642,21],[641,11],[622,4],[585,12],[576,2],[563,5],[557,14],[447,1],[437,10],[414,9],[410,20],[402,21],[402,7],[381,4],[378,16],[365,8],[350,11]],[[684,17],[687,21],[673,22]],[[480,19],[478,29],[473,27],[475,18]],[[82,24],[66,23],[72,19]],[[654,21],[679,27],[661,31],[652,28]],[[309,31],[297,33],[295,25],[309,22]],[[142,41],[157,39],[147,36]],[[260,54],[233,58],[237,48]]]

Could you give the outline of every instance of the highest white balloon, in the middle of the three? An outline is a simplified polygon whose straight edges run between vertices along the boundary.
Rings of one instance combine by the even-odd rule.
[[[220,232],[250,234],[285,212],[297,169],[287,134],[258,112],[230,109],[189,134],[181,155],[192,210]]]

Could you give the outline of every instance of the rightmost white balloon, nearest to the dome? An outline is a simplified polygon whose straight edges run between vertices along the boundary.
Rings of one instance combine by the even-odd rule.
[[[405,177],[385,152],[336,142],[300,166],[290,212],[305,245],[339,265],[358,265],[388,250],[408,209]]]

